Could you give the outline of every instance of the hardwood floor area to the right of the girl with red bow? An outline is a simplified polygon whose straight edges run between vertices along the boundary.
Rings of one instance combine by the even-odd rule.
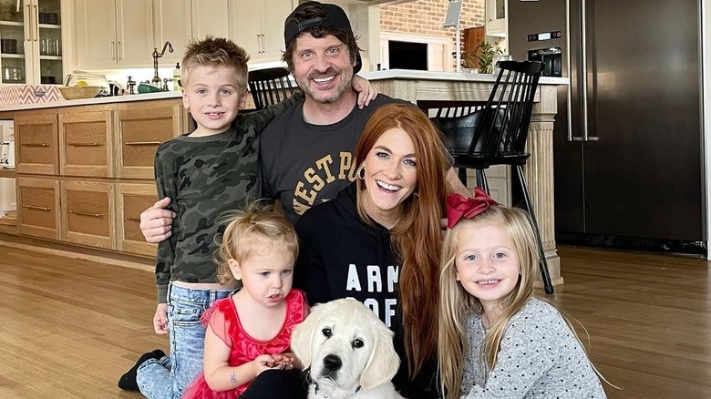
[[[562,247],[554,302],[578,334],[611,398],[711,397],[709,262]],[[551,299],[549,297],[549,299]]]

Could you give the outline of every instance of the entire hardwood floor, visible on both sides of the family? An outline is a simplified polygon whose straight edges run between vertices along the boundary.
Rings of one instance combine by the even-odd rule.
[[[611,398],[711,398],[709,262],[561,248],[549,296],[590,334]],[[0,398],[139,398],[116,387],[152,333],[153,275],[0,246]],[[581,333],[585,340],[584,333]]]

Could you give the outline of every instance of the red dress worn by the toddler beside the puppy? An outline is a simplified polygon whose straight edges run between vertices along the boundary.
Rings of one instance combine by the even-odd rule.
[[[286,294],[285,301],[286,316],[282,330],[270,341],[255,340],[244,332],[240,316],[232,302],[232,295],[215,302],[202,314],[201,322],[205,326],[209,323],[212,331],[222,339],[222,342],[232,348],[229,363],[231,366],[238,366],[252,362],[260,354],[289,352],[292,330],[296,324],[304,321],[308,305],[304,292],[296,289]],[[201,373],[188,385],[182,397],[183,399],[232,399],[239,397],[250,383],[242,384],[230,391],[214,392],[205,381],[205,374]]]

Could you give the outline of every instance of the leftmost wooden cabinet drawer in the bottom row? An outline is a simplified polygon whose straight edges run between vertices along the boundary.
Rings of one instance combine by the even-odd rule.
[[[59,182],[55,179],[17,179],[17,231],[59,240]]]

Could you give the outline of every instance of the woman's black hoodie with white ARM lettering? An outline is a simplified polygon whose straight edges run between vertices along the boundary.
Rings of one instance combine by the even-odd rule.
[[[294,287],[304,290],[309,304],[351,297],[364,302],[395,333],[400,369],[393,383],[408,399],[437,398],[434,357],[414,380],[407,378],[407,356],[399,303],[399,261],[390,234],[361,220],[356,209],[356,184],[335,200],[304,212],[296,224],[299,259]]]

